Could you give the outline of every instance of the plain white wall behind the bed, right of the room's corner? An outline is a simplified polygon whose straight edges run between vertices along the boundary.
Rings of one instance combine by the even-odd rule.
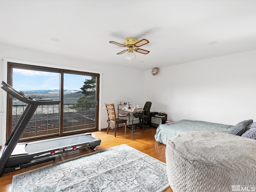
[[[157,67],[157,66],[156,66]],[[168,120],[256,121],[256,50],[145,71],[146,100]]]

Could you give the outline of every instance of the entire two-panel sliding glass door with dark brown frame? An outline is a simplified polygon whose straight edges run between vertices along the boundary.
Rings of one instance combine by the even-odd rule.
[[[8,84],[35,100],[60,101],[38,106],[22,140],[98,130],[99,74],[8,63]],[[8,135],[26,106],[8,98]]]

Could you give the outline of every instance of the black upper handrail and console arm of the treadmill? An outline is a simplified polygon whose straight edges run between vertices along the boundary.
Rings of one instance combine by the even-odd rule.
[[[24,94],[22,94],[21,92],[18,92],[12,86],[10,86],[9,84],[7,84],[4,81],[2,82],[2,85],[3,86],[1,88],[3,90],[5,90],[8,94],[10,94],[14,98],[16,98],[24,103],[27,103],[27,104],[31,104],[31,105],[58,105],[58,104],[60,104],[60,101],[34,100],[33,98],[26,97]]]

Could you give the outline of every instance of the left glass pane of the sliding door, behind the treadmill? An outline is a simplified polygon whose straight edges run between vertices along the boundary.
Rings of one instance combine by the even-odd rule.
[[[35,100],[60,100],[60,73],[12,68],[12,86]],[[27,104],[12,98],[13,129]],[[23,132],[22,139],[58,134],[60,132],[60,106],[40,105]],[[11,130],[12,130],[11,129]],[[9,130],[9,132],[11,131]]]

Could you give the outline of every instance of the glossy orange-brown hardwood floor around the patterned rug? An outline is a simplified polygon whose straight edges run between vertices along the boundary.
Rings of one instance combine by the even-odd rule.
[[[94,138],[100,138],[101,144],[95,148],[95,150],[89,150],[89,148],[82,149],[82,150],[74,150],[72,152],[64,153],[58,155],[54,161],[46,162],[43,164],[31,166],[29,168],[24,168],[22,170],[18,170],[16,172],[10,172],[6,174],[2,174],[0,177],[0,191],[1,192],[10,192],[12,186],[12,176],[15,174],[19,174],[22,172],[26,172],[28,170],[32,170],[41,166],[45,166],[48,164],[52,164],[54,162],[62,161],[65,159],[73,158],[76,156],[80,156],[82,154],[87,154],[90,152],[110,148],[113,146],[117,146],[120,144],[127,144],[141,152],[144,152],[164,163],[165,160],[165,148],[166,145],[156,142],[154,139],[154,135],[156,133],[156,128],[146,128],[145,132],[139,131],[134,132],[132,136],[131,130],[127,130],[127,134],[124,133],[124,128],[119,130],[116,133],[116,138],[114,137],[114,131],[110,131],[106,134],[106,130],[92,132],[92,136]],[[172,192],[172,189],[169,187],[164,192]]]

